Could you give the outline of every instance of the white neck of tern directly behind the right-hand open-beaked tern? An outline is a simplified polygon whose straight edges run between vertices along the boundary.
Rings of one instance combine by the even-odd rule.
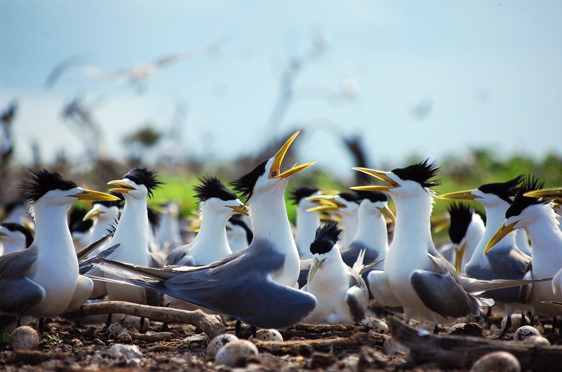
[[[379,252],[379,258],[384,258],[388,252],[388,231],[384,215],[365,200],[359,206],[357,218],[357,233],[353,241],[361,242],[371,250]]]

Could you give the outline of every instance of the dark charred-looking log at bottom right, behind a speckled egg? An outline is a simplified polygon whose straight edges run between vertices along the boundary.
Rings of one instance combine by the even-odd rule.
[[[481,356],[492,351],[507,351],[520,362],[521,370],[562,371],[562,347],[527,346],[519,342],[500,342],[468,336],[434,336],[390,319],[389,328],[396,341],[410,348],[408,359],[415,364],[433,364],[443,369],[470,368]]]

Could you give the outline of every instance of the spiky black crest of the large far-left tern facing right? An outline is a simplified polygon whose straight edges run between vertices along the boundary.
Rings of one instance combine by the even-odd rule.
[[[30,169],[26,179],[20,183],[21,196],[24,203],[39,200],[51,190],[75,189],[76,183],[65,180],[57,172],[49,172],[47,169]]]

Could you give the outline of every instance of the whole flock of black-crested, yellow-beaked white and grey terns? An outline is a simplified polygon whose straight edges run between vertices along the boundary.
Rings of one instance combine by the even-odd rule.
[[[25,208],[13,209],[0,227],[0,333],[33,318],[43,332],[44,318],[105,300],[232,316],[237,336],[242,322],[254,335],[299,322],[355,324],[370,305],[404,314],[406,323],[427,320],[438,332],[438,324],[502,304],[502,336],[513,313],[562,315],[562,189],[521,176],[437,196],[439,168],[428,160],[390,172],[354,168],[387,186],[294,190],[293,234],[285,188],[292,174],[314,164],[280,171],[297,135],[231,182],[233,191],[216,177],[200,178],[200,224],[187,245],[177,210],[175,218],[163,215],[157,230],[149,218],[147,199],[162,187],[154,171],[131,169],[108,182],[108,193],[45,169],[29,171],[21,183]],[[451,242],[436,247],[436,199],[480,203],[486,222],[454,202]],[[93,201],[84,216],[93,223],[71,234],[67,212],[78,200]],[[28,208],[33,220],[25,222]]]

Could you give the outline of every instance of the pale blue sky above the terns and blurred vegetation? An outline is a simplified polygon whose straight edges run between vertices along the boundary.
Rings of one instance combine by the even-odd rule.
[[[80,156],[76,132],[60,117],[76,94],[100,100],[93,114],[108,157],[122,156],[123,137],[144,122],[165,129],[183,102],[179,144],[162,151],[228,162],[275,135],[267,122],[282,67],[321,31],[327,49],[298,76],[297,89],[340,93],[353,81],[357,94],[291,106],[277,134],[309,128],[296,143],[302,162],[350,174],[350,158],[325,123],[360,134],[375,164],[469,148],[560,154],[561,16],[559,1],[4,1],[0,105],[19,100],[23,163],[33,141],[46,159],[60,149]],[[230,42],[219,53],[156,72],[143,94],[123,82],[89,81],[80,68],[43,88],[70,56],[114,70],[224,36]],[[420,118],[416,107],[428,113]]]

